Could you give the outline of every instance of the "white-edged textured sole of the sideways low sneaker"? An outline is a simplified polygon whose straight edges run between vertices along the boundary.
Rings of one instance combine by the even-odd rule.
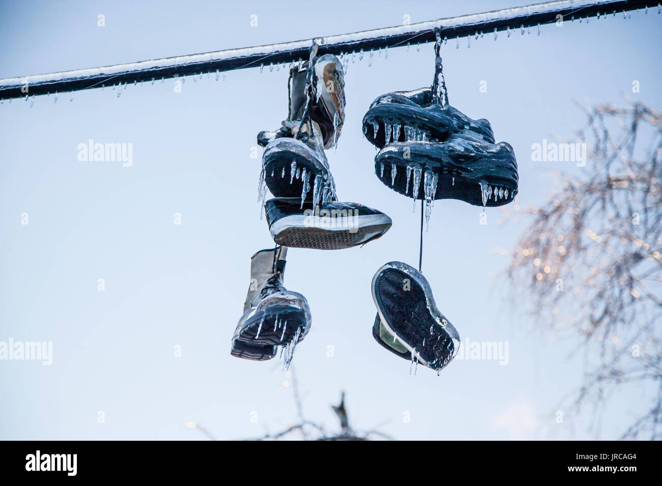
[[[274,222],[269,228],[273,241],[277,245],[291,248],[342,250],[381,237],[392,224],[391,218],[385,214],[355,216],[352,227],[343,227],[349,225],[344,225],[342,218],[326,217],[318,218],[318,222],[311,226],[308,223],[310,218],[312,216],[293,214]]]

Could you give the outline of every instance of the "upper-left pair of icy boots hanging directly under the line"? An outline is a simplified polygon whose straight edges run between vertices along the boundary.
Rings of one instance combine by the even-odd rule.
[[[312,199],[310,181],[320,177],[330,198],[336,186],[324,149],[338,142],[344,124],[345,85],[340,60],[320,56],[309,69],[308,61],[290,69],[289,114],[275,132],[260,132],[265,147],[261,181],[276,197]],[[260,182],[262,184],[262,182]]]

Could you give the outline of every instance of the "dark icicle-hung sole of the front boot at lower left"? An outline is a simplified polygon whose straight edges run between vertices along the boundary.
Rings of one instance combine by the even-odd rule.
[[[246,344],[285,346],[298,335],[303,341],[308,333],[306,313],[293,305],[261,311],[250,317],[242,326],[236,339]]]

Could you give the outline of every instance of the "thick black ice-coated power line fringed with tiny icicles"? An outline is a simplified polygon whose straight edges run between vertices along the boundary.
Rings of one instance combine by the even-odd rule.
[[[100,88],[116,84],[154,83],[156,80],[219,73],[234,69],[279,65],[307,60],[310,48],[318,45],[318,54],[355,54],[373,50],[389,49],[422,44],[436,40],[435,29],[440,31],[442,39],[459,39],[467,36],[496,36],[497,32],[507,30],[530,30],[557,22],[575,19],[600,19],[606,15],[624,15],[648,6],[657,8],[660,4],[651,0],[558,0],[546,3],[495,10],[485,13],[462,15],[448,19],[430,20],[415,24],[395,27],[363,30],[351,34],[330,37],[318,37],[294,42],[283,42],[267,46],[191,54],[128,64],[105,67],[91,67],[59,73],[28,75],[0,79],[0,99],[16,99],[26,96],[46,95],[48,93],[69,93],[83,89]],[[559,17],[561,16],[561,17]],[[360,54],[359,54],[360,55]]]

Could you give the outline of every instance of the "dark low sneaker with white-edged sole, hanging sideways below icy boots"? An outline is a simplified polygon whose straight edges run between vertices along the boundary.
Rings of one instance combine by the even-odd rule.
[[[264,205],[277,245],[339,250],[377,239],[391,227],[389,216],[362,204],[331,201],[318,205],[319,188],[317,183],[314,186],[315,204],[301,204],[300,198],[275,198]]]

